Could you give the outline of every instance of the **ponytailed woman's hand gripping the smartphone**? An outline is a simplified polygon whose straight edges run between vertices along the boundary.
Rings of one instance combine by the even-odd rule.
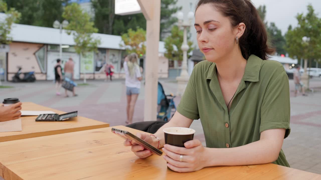
[[[155,144],[151,135],[146,133],[137,133],[136,136],[155,147]],[[144,148],[141,145],[133,145],[130,141],[125,141],[124,146],[132,146],[131,150],[134,152],[134,154],[142,159],[145,159],[152,155],[152,152],[150,150]]]

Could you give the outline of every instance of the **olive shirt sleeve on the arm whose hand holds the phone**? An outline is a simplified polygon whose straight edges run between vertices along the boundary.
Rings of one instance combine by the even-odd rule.
[[[197,66],[197,65],[196,65]],[[196,66],[188,80],[185,92],[181,98],[181,101],[177,107],[177,111],[183,116],[189,119],[199,119],[197,98],[196,98]]]

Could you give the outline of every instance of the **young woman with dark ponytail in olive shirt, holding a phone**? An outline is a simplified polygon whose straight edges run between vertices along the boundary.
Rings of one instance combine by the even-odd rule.
[[[210,166],[274,163],[289,167],[281,149],[290,134],[287,74],[277,61],[255,6],[249,0],[200,0],[195,10],[199,49],[207,61],[196,64],[174,117],[154,135],[168,167],[190,172]],[[206,146],[165,144],[163,128],[189,127],[200,119]],[[138,134],[158,146],[159,140]],[[124,142],[140,158],[142,146]]]

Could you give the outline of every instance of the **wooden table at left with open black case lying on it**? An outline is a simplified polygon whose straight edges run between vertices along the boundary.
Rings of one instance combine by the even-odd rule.
[[[51,110],[58,114],[65,113],[32,102],[23,102],[22,110]],[[36,117],[37,116],[22,116],[22,131],[0,132],[0,142],[109,127],[108,123],[80,116],[59,122],[36,122]]]

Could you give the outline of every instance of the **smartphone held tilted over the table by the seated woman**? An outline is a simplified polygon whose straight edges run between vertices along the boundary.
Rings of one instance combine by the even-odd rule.
[[[111,132],[115,133],[116,135],[119,135],[120,137],[124,138],[126,141],[130,141],[132,144],[137,144],[137,145],[143,146],[144,148],[150,150],[154,154],[157,154],[159,156],[161,156],[163,154],[163,152],[160,151],[159,149],[155,148],[154,146],[152,146],[149,143],[146,143],[146,141],[133,135],[132,133],[130,133],[128,131],[124,131],[124,130],[116,129],[116,128],[111,128]]]

